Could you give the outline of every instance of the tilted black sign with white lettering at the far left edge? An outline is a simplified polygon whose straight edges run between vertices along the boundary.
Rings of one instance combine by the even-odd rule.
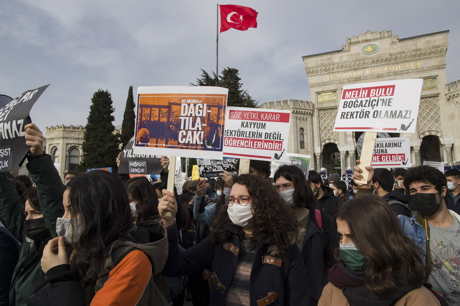
[[[0,172],[18,170],[30,147],[24,127],[31,123],[30,111],[50,85],[28,90],[0,109]]]

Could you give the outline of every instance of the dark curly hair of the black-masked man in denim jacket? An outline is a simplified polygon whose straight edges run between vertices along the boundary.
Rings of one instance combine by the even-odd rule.
[[[404,175],[404,187],[409,191],[410,184],[414,182],[424,182],[434,185],[434,188],[441,191],[447,187],[447,179],[443,172],[430,166],[417,166],[407,170]]]

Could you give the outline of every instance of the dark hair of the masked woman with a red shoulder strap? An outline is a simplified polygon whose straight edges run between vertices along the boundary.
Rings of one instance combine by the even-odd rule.
[[[282,165],[278,168],[277,172],[273,175],[273,181],[275,184],[280,176],[294,184],[294,203],[292,208],[305,207],[310,209],[314,203],[315,198],[313,191],[305,179],[304,172],[299,167],[293,165]]]

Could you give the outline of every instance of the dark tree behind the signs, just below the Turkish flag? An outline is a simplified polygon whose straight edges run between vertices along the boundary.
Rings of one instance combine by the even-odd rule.
[[[208,72],[201,69],[201,78],[196,79],[197,84],[193,86],[220,86],[228,88],[227,106],[236,107],[257,107],[257,102],[254,100],[247,90],[241,89],[243,85],[240,83],[241,78],[238,75],[238,69],[227,67],[222,70],[222,75],[217,76],[215,72],[210,75]]]

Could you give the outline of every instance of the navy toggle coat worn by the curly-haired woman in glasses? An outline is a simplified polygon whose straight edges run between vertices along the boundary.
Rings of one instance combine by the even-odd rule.
[[[228,231],[233,233],[233,224],[227,224]],[[310,305],[310,294],[308,290],[308,279],[305,265],[302,262],[300,251],[294,244],[297,237],[292,237],[293,246],[289,252],[289,269],[286,284],[283,284],[282,267],[270,263],[263,263],[263,256],[281,258],[280,250],[273,244],[265,244],[256,250],[252,264],[249,295],[250,306],[266,305],[269,300],[277,294],[277,298],[270,304],[277,305]],[[168,276],[179,276],[195,274],[201,269],[211,270],[211,304],[223,305],[228,288],[232,284],[235,269],[238,263],[238,250],[240,237],[236,234],[229,239],[229,243],[214,244],[209,237],[201,243],[179,253],[177,247],[177,231],[175,226],[168,228],[169,256],[163,274]],[[232,244],[234,247],[232,247]],[[226,250],[226,249],[227,250]],[[265,299],[263,299],[265,298]]]

